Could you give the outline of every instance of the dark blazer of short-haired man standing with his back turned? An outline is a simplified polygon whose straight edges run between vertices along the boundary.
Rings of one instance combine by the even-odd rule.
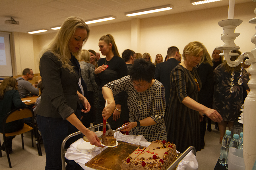
[[[177,61],[175,58],[170,58],[167,61],[156,65],[154,77],[156,80],[160,81],[164,85],[166,106],[168,106],[169,98],[170,98],[170,94],[171,94],[171,92],[170,92],[170,90],[171,90],[171,85],[170,85],[171,71],[179,63],[180,63],[180,61]]]

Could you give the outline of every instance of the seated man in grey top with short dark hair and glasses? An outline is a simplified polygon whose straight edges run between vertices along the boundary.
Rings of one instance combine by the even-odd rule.
[[[20,98],[26,97],[28,94],[37,94],[39,95],[39,89],[36,88],[36,84],[31,84],[28,80],[32,80],[34,77],[32,69],[24,69],[22,71],[22,76],[16,78],[18,81],[18,89],[20,93]],[[38,81],[40,82],[41,79]]]

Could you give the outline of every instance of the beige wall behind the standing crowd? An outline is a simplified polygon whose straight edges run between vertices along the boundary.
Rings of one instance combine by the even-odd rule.
[[[253,13],[254,9],[254,2],[235,5],[234,18],[243,20],[243,23],[235,30],[241,34],[235,40],[241,52],[251,51],[255,47],[250,41],[255,34],[255,24],[248,23],[251,18],[256,17]],[[227,16],[228,6],[225,6],[94,27],[89,25],[91,33],[83,49],[93,49],[99,52],[99,38],[110,33],[115,38],[120,55],[125,49],[130,48],[142,54],[150,53],[152,62],[158,53],[165,57],[169,46],[177,46],[182,53],[184,46],[191,41],[202,42],[211,54],[216,46],[224,44],[220,39],[223,29],[218,22],[227,19]],[[17,71],[30,67],[36,71],[35,73],[39,73],[38,53],[54,35],[55,33],[51,33],[32,37],[25,33],[15,33]],[[18,46],[22,46],[22,50]],[[21,52],[20,55],[19,52]],[[22,58],[20,64],[19,58]]]

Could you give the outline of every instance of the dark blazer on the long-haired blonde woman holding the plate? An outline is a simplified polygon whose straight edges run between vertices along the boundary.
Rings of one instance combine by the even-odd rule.
[[[76,71],[69,73],[69,69],[63,68],[51,52],[43,54],[39,70],[44,90],[37,114],[66,119],[76,111],[79,104],[77,87],[81,74],[78,75]]]

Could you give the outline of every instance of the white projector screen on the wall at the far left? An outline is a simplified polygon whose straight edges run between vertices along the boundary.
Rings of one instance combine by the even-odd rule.
[[[0,77],[13,76],[10,34],[0,32]]]

